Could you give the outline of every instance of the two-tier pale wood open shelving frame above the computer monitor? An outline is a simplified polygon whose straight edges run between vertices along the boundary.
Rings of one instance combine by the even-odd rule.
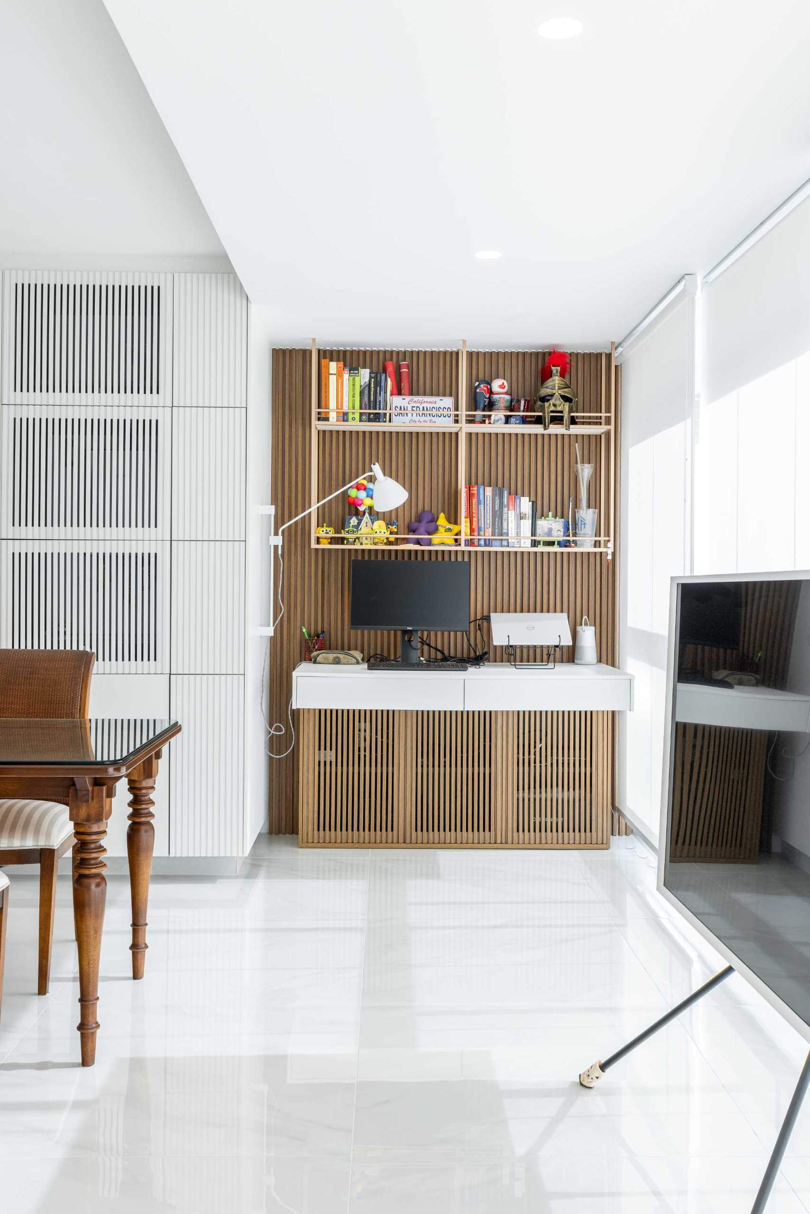
[[[577,424],[545,430],[537,424],[492,425],[475,421],[472,393],[475,381],[503,376],[516,397],[534,398],[540,384],[540,368],[548,351],[468,350],[325,350],[312,341],[311,347],[311,467],[310,505],[319,501],[335,484],[363,476],[376,461],[406,486],[409,499],[403,507],[396,538],[367,544],[351,544],[340,534],[350,509],[344,500],[322,506],[313,516],[310,545],[318,552],[383,555],[408,551],[415,556],[448,552],[514,556],[587,557],[601,555],[611,560],[614,548],[616,518],[616,418],[617,368],[614,351],[571,354],[571,382],[577,392]],[[345,365],[383,370],[391,359],[395,365],[410,364],[413,395],[451,396],[453,421],[444,425],[401,425],[387,421],[324,421],[319,399],[321,359]],[[512,442],[511,439],[515,439]],[[407,526],[421,510],[443,510],[454,523],[464,518],[466,484],[505,484],[537,501],[538,515],[551,512],[568,517],[570,501],[576,499],[574,444],[579,443],[583,463],[594,465],[590,503],[599,510],[597,533],[590,546],[582,541],[566,548],[534,540],[532,546],[493,548],[476,543],[481,537],[459,534],[441,544],[414,544],[407,538]],[[318,526],[335,528],[333,537],[318,538]],[[508,537],[486,537],[488,540]]]

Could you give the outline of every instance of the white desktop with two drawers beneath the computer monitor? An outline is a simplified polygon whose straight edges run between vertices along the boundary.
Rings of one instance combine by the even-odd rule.
[[[554,670],[515,670],[508,662],[491,662],[465,671],[369,670],[366,663],[325,666],[301,662],[293,671],[293,708],[358,704],[451,713],[622,713],[633,708],[633,676],[601,662],[594,666],[562,662]]]

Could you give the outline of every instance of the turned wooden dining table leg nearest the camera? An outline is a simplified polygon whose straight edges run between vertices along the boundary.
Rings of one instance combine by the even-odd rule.
[[[70,790],[70,818],[77,838],[73,878],[73,914],[79,946],[79,1029],[81,1065],[96,1061],[98,1021],[98,959],[104,924],[107,880],[103,841],[109,817],[109,795],[103,784]]]

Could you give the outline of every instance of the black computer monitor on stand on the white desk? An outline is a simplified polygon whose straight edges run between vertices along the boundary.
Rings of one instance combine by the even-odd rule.
[[[406,643],[406,632],[466,632],[469,626],[468,561],[352,560],[351,628],[402,632],[403,665],[419,662],[419,645]]]

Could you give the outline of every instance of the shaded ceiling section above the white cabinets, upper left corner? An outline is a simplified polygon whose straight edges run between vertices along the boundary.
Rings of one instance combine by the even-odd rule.
[[[101,0],[2,0],[0,113],[0,265],[225,259]]]

